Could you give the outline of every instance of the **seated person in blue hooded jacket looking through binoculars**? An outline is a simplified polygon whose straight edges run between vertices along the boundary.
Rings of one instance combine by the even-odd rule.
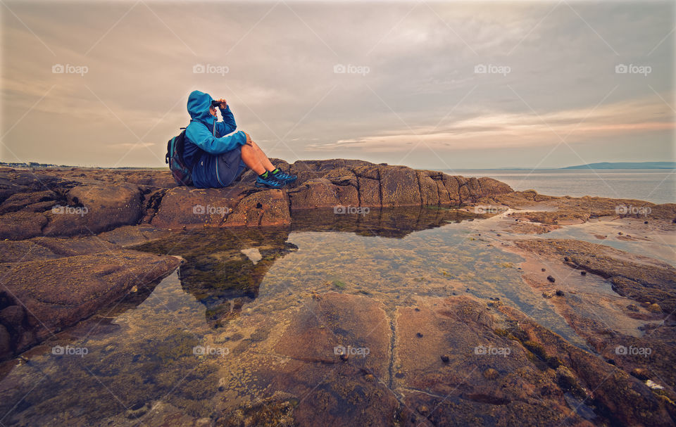
[[[216,106],[223,122],[218,122]],[[258,174],[255,186],[281,189],[296,176],[275,167],[251,136],[238,131],[225,99],[213,101],[209,94],[192,91],[188,97],[192,120],[185,129],[183,160],[192,166],[192,181],[198,188],[220,188],[232,184],[246,167]]]

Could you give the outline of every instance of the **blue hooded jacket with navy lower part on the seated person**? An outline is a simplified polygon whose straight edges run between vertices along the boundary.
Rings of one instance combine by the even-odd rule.
[[[213,98],[201,91],[188,96],[188,113],[192,120],[185,129],[183,160],[192,167],[192,181],[198,188],[218,188],[218,155],[246,144],[246,134],[237,130],[230,106],[220,109],[223,122],[209,113]],[[194,165],[194,166],[193,166]]]

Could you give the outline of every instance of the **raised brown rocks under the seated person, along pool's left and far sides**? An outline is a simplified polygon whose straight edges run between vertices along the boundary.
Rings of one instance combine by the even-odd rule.
[[[0,168],[0,359],[173,271],[175,257],[120,246],[144,241],[143,229],[289,226],[299,210],[457,205],[511,191],[490,178],[361,160],[275,164],[298,175],[291,189],[254,189],[251,171],[227,189],[194,189],[168,170]]]

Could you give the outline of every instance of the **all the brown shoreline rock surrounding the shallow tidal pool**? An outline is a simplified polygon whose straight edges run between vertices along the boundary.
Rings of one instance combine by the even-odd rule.
[[[242,262],[237,267],[246,269],[246,281],[218,291],[230,299],[229,309],[211,307],[207,320],[226,325],[237,319],[247,298],[256,298],[259,279],[275,259],[293,250],[284,245],[289,230],[369,235],[387,226],[392,236],[402,236],[470,219],[465,224],[470,224],[472,239],[525,260],[518,267],[522,280],[532,292],[542,294],[589,350],[568,343],[499,300],[453,293],[417,298],[408,306],[390,309],[364,295],[331,292],[309,300],[309,311],[270,324],[270,338],[258,343],[255,352],[241,350],[244,359],[254,373],[279,384],[280,390],[288,378],[316,376],[320,381],[325,374],[320,364],[342,362],[320,349],[332,326],[312,326],[319,315],[348,331],[346,345],[367,335],[363,329],[368,325],[370,340],[375,340],[370,347],[377,357],[351,359],[334,369],[334,383],[356,378],[350,387],[359,390],[332,385],[325,393],[333,397],[325,404],[331,407],[336,396],[348,399],[357,393],[363,399],[355,402],[356,408],[361,408],[362,420],[373,425],[675,422],[676,268],[665,260],[673,259],[668,242],[676,236],[676,204],[544,196],[513,191],[491,178],[467,179],[361,160],[291,165],[275,160],[275,164],[297,174],[297,184],[283,191],[253,189],[249,172],[228,189],[189,189],[176,187],[164,170],[0,168],[0,359],[12,366],[15,357],[54,339],[58,331],[102,309],[112,310],[130,295],[150,293],[182,262],[186,290],[198,300],[213,299],[213,293],[201,295],[204,290],[192,289],[191,278],[201,280],[204,262],[213,267],[221,259],[230,262],[232,255],[223,255],[229,253],[226,247],[220,249],[218,260],[205,257],[199,248],[182,256],[165,255],[172,253],[176,232],[207,236],[210,229],[231,227],[282,230],[261,254],[260,264],[247,267]],[[618,206],[639,206],[650,214],[623,213]],[[361,219],[333,215],[337,207],[368,208],[377,215]],[[566,230],[574,230],[580,238],[549,238]],[[613,245],[644,248],[645,253]],[[239,248],[233,252],[237,253]],[[588,291],[590,286],[597,291]],[[355,309],[345,312],[346,306]],[[372,335],[372,329],[377,333]],[[425,331],[424,337],[420,331]],[[298,347],[299,342],[307,344]],[[449,346],[477,345],[510,348],[513,357],[495,366],[483,362],[479,366],[473,357],[449,352]],[[650,349],[651,354],[627,357],[618,348]],[[264,371],[266,364],[256,362],[261,349],[291,362],[276,374]],[[384,386],[396,393],[384,391]],[[301,393],[299,388],[292,395],[268,397],[265,407],[279,410],[263,416],[270,422],[289,422],[277,425],[311,425],[327,407],[313,402],[314,410],[294,412]],[[377,402],[375,409],[368,409],[367,401]],[[217,405],[217,409],[223,415],[215,425],[239,425],[236,419],[266,421],[256,418],[261,416],[256,404]],[[167,410],[164,415],[170,419],[172,414]],[[144,423],[160,425],[161,419]],[[340,417],[332,422],[340,423]]]

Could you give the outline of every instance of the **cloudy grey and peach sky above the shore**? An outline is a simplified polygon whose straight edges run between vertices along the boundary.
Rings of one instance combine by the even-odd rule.
[[[675,160],[673,1],[1,1],[3,161],[163,166],[194,89],[271,157]]]

